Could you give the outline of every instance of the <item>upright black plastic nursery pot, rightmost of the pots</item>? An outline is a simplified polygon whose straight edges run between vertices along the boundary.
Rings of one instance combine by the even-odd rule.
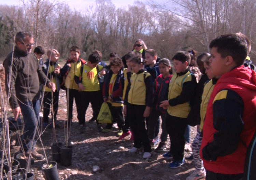
[[[66,145],[60,147],[60,162],[62,166],[70,166],[72,163],[73,146]]]

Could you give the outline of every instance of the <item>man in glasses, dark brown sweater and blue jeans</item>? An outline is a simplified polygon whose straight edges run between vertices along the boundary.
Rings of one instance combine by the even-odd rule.
[[[20,150],[28,152],[34,158],[43,159],[35,149],[33,135],[38,124],[39,115],[39,82],[55,91],[55,84],[51,83],[43,73],[37,56],[32,52],[34,39],[28,32],[18,32],[15,36],[15,49],[3,62],[5,68],[5,88],[9,103],[17,120],[22,114],[24,119],[24,133]],[[36,139],[36,138],[35,138]]]

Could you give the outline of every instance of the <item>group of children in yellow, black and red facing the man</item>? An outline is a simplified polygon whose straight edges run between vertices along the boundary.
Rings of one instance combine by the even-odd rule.
[[[155,50],[146,50],[145,59],[140,52],[129,52],[125,56],[125,69],[116,53],[110,54],[109,66],[101,66],[99,51],[91,53],[85,61],[79,57],[79,48],[73,46],[70,59],[61,69],[57,64],[57,50],[49,50],[49,60],[43,69],[56,87],[60,87],[62,81],[65,84],[66,126],[72,122],[73,98],[81,132],[89,103],[94,111],[90,122],[97,122],[101,104],[107,103],[113,122],[101,132],[112,131],[113,123],[117,122],[119,140],[132,135],[134,145],[129,152],[143,149],[143,158],[150,158],[161,116],[161,141],[155,151],[166,148],[169,134],[170,150],[163,157],[173,159],[170,168],[182,166],[185,159],[194,159],[196,169],[187,180],[205,176],[207,179],[241,179],[246,147],[256,130],[256,74],[243,65],[250,46],[250,41],[241,33],[219,36],[210,44],[211,55],[203,53],[196,59],[192,51],[179,51],[172,58],[173,68],[169,59],[157,62]],[[195,75],[195,62],[202,73],[200,79]],[[62,79],[58,82],[58,78]],[[48,100],[53,99],[53,104],[57,104],[58,90],[44,94],[44,123],[48,123],[45,117],[49,114]],[[194,99],[196,113],[191,117]],[[53,106],[53,111],[57,111],[57,106]],[[199,119],[197,135],[192,144],[193,156],[184,158],[184,135],[191,118]]]

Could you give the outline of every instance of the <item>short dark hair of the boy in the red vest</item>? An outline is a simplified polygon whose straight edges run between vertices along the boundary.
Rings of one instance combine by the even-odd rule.
[[[244,63],[248,55],[248,44],[244,36],[239,34],[225,34],[213,39],[210,48],[216,47],[222,58],[231,56],[237,66]]]

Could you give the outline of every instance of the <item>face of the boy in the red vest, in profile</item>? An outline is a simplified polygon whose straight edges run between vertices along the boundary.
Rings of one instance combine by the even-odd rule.
[[[218,77],[226,73],[226,58],[221,57],[221,54],[217,52],[217,47],[212,48],[211,55],[209,62],[213,76]]]

